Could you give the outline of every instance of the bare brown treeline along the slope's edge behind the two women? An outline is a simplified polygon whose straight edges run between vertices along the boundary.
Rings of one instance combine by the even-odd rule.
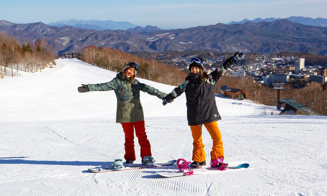
[[[149,60],[109,47],[86,46],[80,53],[84,62],[113,72],[122,72],[128,62],[136,62],[139,65],[136,77],[162,84],[178,86],[187,75],[154,58]]]

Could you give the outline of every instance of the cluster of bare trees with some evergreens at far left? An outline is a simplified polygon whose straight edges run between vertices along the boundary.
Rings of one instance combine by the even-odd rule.
[[[14,76],[19,71],[36,72],[55,58],[55,51],[43,39],[21,44],[16,37],[0,34],[0,75]]]

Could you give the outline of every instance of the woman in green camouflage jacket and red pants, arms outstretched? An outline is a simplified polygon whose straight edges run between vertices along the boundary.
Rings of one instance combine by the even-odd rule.
[[[155,164],[155,160],[152,157],[150,142],[145,132],[140,90],[160,99],[167,94],[136,80],[137,71],[138,65],[135,62],[129,62],[124,67],[123,72],[117,74],[112,81],[101,84],[82,84],[81,87],[78,87],[78,92],[114,90],[117,97],[116,123],[121,123],[125,133],[125,165],[136,160],[134,150],[135,128],[135,135],[141,147],[142,165],[151,166]]]

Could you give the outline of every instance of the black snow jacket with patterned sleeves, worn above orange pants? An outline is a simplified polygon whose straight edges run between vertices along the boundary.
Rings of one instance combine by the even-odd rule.
[[[176,87],[171,94],[186,95],[188,125],[200,125],[220,120],[221,117],[215,101],[215,83],[222,75],[217,69],[206,74],[206,80],[198,83],[199,74],[189,74],[180,86]]]

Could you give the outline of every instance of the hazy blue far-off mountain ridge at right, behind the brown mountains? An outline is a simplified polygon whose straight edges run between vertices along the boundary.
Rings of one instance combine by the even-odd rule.
[[[299,24],[305,24],[305,25],[311,25],[311,26],[327,26],[327,18],[313,19],[313,18],[303,17],[303,16],[291,16],[291,17],[288,17],[285,19],[287,19],[291,22],[294,22],[294,23],[299,23]],[[252,22],[252,23],[259,23],[262,21],[272,22],[272,21],[276,21],[276,20],[281,20],[281,18],[266,18],[266,19],[256,18],[254,20],[244,19],[239,22],[232,21],[232,22],[228,23],[228,25],[230,25],[230,24],[245,24],[246,22]]]

